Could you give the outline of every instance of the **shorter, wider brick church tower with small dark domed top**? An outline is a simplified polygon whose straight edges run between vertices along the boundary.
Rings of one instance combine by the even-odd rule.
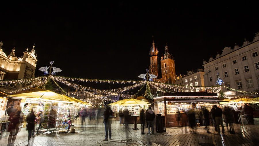
[[[162,83],[175,84],[174,57],[169,53],[168,46],[165,46],[165,54],[161,57]]]

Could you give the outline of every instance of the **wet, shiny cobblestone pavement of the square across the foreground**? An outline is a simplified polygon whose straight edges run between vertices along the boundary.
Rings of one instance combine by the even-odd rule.
[[[75,122],[75,133],[57,133],[52,134],[39,134],[35,135],[30,142],[30,145],[58,145],[58,146],[70,146],[70,145],[258,145],[259,144],[259,126],[258,118],[255,120],[255,125],[235,124],[236,134],[230,134],[226,131],[225,135],[218,135],[216,131],[212,131],[208,134],[204,127],[198,127],[197,133],[187,132],[181,128],[166,128],[164,133],[155,133],[155,135],[141,135],[140,130],[132,130],[133,124],[129,124],[129,127],[125,129],[123,125],[120,125],[118,121],[112,123],[112,140],[102,141],[105,136],[104,126],[102,122],[95,125],[87,120],[86,126],[81,126],[80,122]],[[140,128],[140,124],[138,124]],[[145,133],[147,133],[145,128]],[[182,131],[183,130],[183,131]],[[3,132],[0,136],[0,145],[7,145],[7,139],[9,132]],[[28,132],[25,128],[17,134],[14,145],[27,145]]]

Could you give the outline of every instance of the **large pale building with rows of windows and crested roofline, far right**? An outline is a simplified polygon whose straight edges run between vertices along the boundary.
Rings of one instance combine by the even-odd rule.
[[[259,32],[254,40],[249,42],[245,39],[240,47],[224,48],[222,54],[216,58],[210,57],[209,61],[203,60],[205,86],[216,86],[217,74],[224,80],[224,86],[242,91],[256,91],[259,85]],[[223,89],[226,96],[242,92]],[[251,95],[247,95],[251,96]]]

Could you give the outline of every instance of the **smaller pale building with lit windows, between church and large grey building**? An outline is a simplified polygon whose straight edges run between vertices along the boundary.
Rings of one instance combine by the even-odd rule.
[[[182,83],[184,86],[204,86],[204,70],[197,69],[194,71],[187,71],[187,75],[182,77]],[[205,89],[183,89],[184,92],[201,92]]]

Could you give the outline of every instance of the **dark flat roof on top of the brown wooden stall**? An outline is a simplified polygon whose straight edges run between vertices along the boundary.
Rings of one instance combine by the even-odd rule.
[[[164,96],[218,96],[218,94],[208,92],[175,92],[164,93]]]

